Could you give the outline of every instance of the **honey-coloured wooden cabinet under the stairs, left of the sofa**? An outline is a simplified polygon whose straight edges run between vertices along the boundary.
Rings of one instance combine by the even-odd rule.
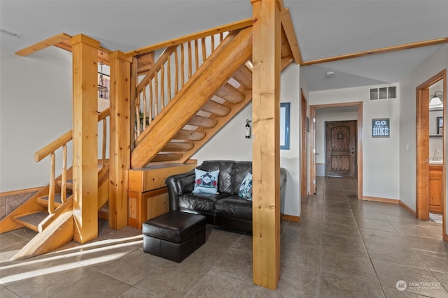
[[[141,229],[141,224],[169,211],[169,195],[165,179],[174,174],[190,172],[196,161],[182,164],[152,165],[128,170],[127,225]]]

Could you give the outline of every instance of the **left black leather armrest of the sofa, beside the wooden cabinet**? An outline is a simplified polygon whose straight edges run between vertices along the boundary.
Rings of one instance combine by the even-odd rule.
[[[169,209],[179,209],[179,195],[193,191],[195,170],[183,174],[175,174],[165,179],[169,195]]]

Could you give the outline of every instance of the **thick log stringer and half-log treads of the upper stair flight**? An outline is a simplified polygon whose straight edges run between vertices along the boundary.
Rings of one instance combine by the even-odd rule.
[[[135,140],[132,168],[185,163],[252,99],[252,30],[232,31]]]

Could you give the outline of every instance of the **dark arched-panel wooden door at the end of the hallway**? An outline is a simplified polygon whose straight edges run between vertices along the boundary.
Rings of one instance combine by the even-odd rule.
[[[356,177],[356,121],[325,121],[325,175]]]

